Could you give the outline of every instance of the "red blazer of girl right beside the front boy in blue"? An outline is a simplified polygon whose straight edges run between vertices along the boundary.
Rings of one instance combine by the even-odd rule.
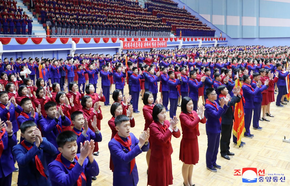
[[[150,141],[151,141],[151,156],[156,158],[162,158],[164,156],[171,156],[173,153],[171,145],[171,136],[175,138],[180,137],[180,130],[177,132],[171,132],[169,130],[170,122],[168,120],[164,121],[164,125],[167,125],[167,130],[161,128],[162,124],[159,122],[153,122],[149,126],[150,128]]]

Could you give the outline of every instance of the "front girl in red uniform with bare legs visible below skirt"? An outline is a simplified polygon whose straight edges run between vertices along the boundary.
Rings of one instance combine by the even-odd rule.
[[[197,108],[197,112],[193,110],[193,101],[189,97],[181,100],[181,113],[179,115],[182,128],[182,139],[180,142],[179,159],[183,162],[182,177],[183,185],[191,186],[193,165],[198,163],[199,150],[197,136],[200,135],[198,123],[206,123],[204,117],[204,106]]]

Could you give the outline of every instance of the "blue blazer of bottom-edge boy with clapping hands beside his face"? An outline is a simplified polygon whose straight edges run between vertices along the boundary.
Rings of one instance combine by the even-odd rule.
[[[80,154],[77,154],[77,157],[79,156]],[[81,166],[74,158],[75,167],[72,169],[66,168],[70,167],[71,162],[69,160],[61,156],[61,161],[62,163],[54,160],[48,165],[48,172],[53,186],[77,186],[77,180],[81,172],[85,174],[87,180],[85,181],[81,178],[81,186],[90,186],[92,185],[92,176],[99,175],[99,166],[95,160],[91,164],[86,158]]]

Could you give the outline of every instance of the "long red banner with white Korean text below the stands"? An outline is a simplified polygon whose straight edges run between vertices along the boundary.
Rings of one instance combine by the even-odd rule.
[[[164,47],[167,47],[167,41],[123,41],[123,49]]]

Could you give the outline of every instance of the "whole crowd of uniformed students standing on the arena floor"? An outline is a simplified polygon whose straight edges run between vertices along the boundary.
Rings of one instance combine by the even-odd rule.
[[[274,117],[270,104],[275,101],[276,85],[276,106],[287,105],[288,50],[227,46],[127,51],[113,56],[68,54],[59,60],[5,58],[0,61],[0,185],[11,185],[12,172],[18,171],[16,161],[18,185],[91,185],[99,174],[93,155],[99,155],[100,130],[107,123],[101,102],[110,106],[112,115],[108,147],[113,185],[137,185],[135,157],[142,152],[147,152],[148,185],[172,185],[171,138],[181,136],[179,122],[184,185],[194,185],[198,124],[206,123],[206,168],[217,172],[219,147],[223,158],[230,160],[234,155],[229,144],[235,103],[243,105],[242,135],[247,138],[254,137],[252,113],[255,130],[262,130],[259,122],[269,121],[266,116]],[[101,88],[97,87],[99,77]],[[235,79],[241,85],[235,86]],[[140,96],[145,124],[138,139],[130,127],[135,127],[134,114],[140,113]],[[198,105],[200,99],[202,105]],[[233,143],[246,144],[239,140],[233,135]]]

